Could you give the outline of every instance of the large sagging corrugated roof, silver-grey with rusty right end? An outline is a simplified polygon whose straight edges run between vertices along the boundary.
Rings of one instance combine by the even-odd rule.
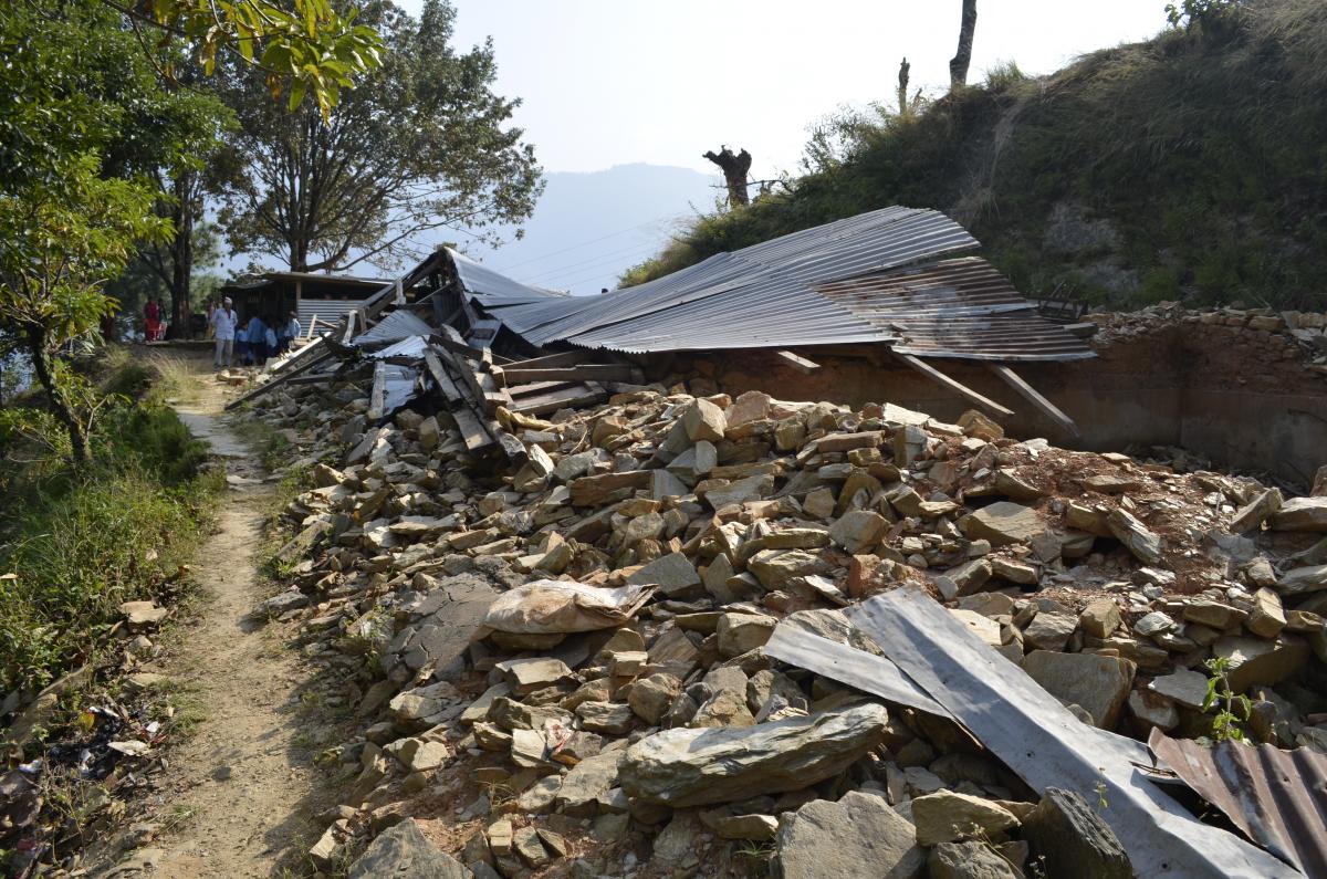
[[[1038,317],[982,260],[953,260],[946,270],[954,279],[949,293],[937,284],[925,289],[916,281],[884,283],[896,278],[896,270],[977,246],[938,211],[886,207],[718,254],[601,296],[528,287],[453,256],[471,299],[536,348],[564,341],[645,353],[885,343],[934,357],[1092,356],[1085,344]],[[860,285],[840,287],[849,279],[860,279]],[[947,309],[902,321],[918,301],[929,297],[938,304],[946,296]]]

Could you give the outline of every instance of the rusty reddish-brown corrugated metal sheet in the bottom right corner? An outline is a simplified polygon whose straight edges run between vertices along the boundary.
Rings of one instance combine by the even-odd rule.
[[[1310,876],[1327,876],[1327,757],[1307,748],[1204,748],[1152,730],[1148,746],[1255,843]]]

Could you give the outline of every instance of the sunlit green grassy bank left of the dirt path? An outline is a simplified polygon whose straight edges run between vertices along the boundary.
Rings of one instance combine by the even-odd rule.
[[[187,590],[179,566],[204,539],[224,473],[166,405],[183,368],[110,351],[81,368],[109,396],[94,462],[76,470],[40,397],[0,410],[0,701],[104,655],[123,601]],[[11,704],[12,704],[11,698]],[[0,733],[3,736],[3,733]]]

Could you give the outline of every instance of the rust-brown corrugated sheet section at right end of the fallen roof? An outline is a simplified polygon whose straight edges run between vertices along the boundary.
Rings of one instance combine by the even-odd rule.
[[[1093,356],[975,256],[821,284],[816,292],[893,332],[894,351],[905,355],[1009,361]]]

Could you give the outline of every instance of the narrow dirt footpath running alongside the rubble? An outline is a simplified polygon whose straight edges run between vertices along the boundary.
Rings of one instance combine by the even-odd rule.
[[[247,619],[271,595],[257,564],[272,486],[220,420],[219,385],[202,384],[202,400],[182,404],[180,414],[240,479],[231,479],[218,531],[194,562],[204,605],[166,671],[191,689],[206,720],[173,754],[162,791],[178,830],[133,860],[170,879],[285,875],[300,871],[299,852],[318,833],[312,815],[324,806],[301,712],[311,675],[275,629]]]

